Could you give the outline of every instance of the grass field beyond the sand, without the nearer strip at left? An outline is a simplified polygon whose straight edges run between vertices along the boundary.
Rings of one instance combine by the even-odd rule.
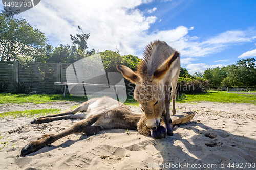
[[[0,106],[8,103],[48,103],[56,101],[87,101],[86,98],[76,97],[72,95],[66,95],[65,98],[61,94],[0,94]],[[226,91],[217,92],[203,92],[198,94],[181,94],[177,95],[177,102],[199,102],[199,101],[209,101],[209,102],[234,102],[234,103],[252,103],[256,104],[256,95],[253,94],[237,94],[228,93]],[[125,105],[137,106],[138,102],[134,99],[128,99],[124,103]]]

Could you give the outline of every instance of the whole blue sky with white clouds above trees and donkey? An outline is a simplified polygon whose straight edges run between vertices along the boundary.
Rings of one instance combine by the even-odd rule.
[[[150,41],[166,41],[190,74],[255,57],[255,16],[254,0],[41,0],[19,15],[53,46],[71,45],[70,34],[80,33],[77,25],[90,33],[89,49],[98,51],[141,58]]]

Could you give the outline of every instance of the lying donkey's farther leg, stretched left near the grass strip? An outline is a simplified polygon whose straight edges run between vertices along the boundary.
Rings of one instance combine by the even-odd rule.
[[[30,123],[31,124],[41,124],[41,123],[46,123],[46,122],[52,122],[54,120],[63,120],[63,119],[84,119],[85,118],[85,114],[81,114],[81,115],[74,115],[77,112],[83,111],[83,110],[87,110],[89,106],[89,102],[85,102],[84,104],[78,106],[76,109],[74,110],[70,110],[67,111],[65,113],[59,113],[59,114],[55,114],[55,115],[47,115],[44,117],[39,117],[37,119],[32,120]]]

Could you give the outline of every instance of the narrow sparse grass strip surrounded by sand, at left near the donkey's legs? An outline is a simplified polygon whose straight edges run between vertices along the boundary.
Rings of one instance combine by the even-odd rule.
[[[13,118],[17,117],[39,117],[45,116],[48,114],[57,114],[61,109],[37,109],[37,110],[24,110],[24,111],[11,111],[0,113],[0,117],[11,116]]]

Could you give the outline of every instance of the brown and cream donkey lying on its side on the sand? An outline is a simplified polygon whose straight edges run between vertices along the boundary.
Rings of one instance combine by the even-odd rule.
[[[85,114],[75,115],[77,112],[86,111]],[[173,123],[185,123],[194,117],[194,114],[189,116],[185,115],[187,119],[176,118],[178,121]],[[86,135],[94,135],[103,129],[130,129],[138,130],[142,135],[151,135],[154,138],[165,138],[166,136],[166,124],[165,124],[165,112],[161,117],[160,126],[157,130],[153,131],[146,126],[145,114],[132,113],[124,104],[108,97],[94,98],[87,102],[84,102],[76,109],[60,113],[56,115],[48,115],[45,117],[39,117],[38,119],[30,122],[34,123],[46,123],[60,119],[84,119],[75,123],[70,128],[63,130],[57,134],[43,135],[41,139],[37,141],[31,141],[25,147],[23,147],[21,155],[28,155],[32,152],[45,147],[48,144],[55,142],[56,140],[68,136],[73,133],[84,133]]]

